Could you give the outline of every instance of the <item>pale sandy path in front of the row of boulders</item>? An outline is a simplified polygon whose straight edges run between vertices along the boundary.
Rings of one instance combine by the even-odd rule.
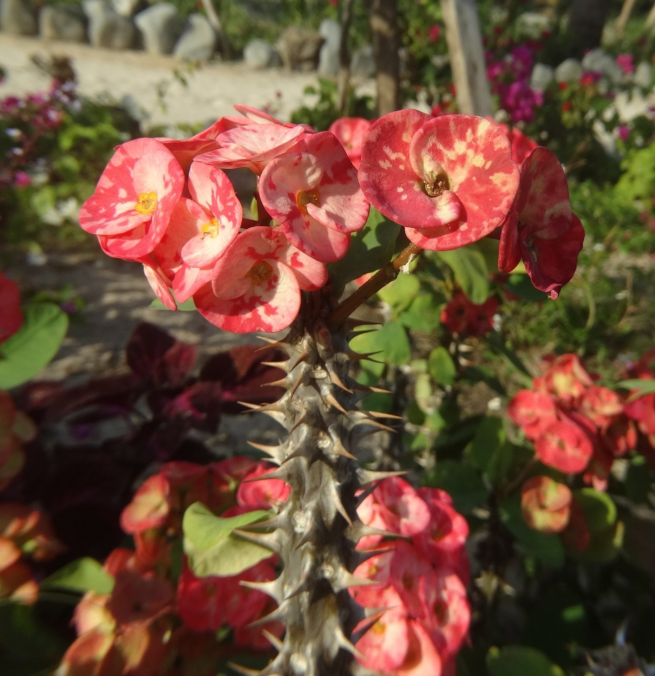
[[[316,84],[314,73],[256,71],[240,62],[212,62],[194,70],[173,57],[143,51],[95,49],[0,33],[0,66],[7,71],[0,97],[47,89],[49,78],[32,64],[32,54],[70,56],[80,94],[109,101],[128,96],[147,111],[153,124],[212,122],[233,114],[234,103],[270,107],[276,116],[288,120],[291,111],[308,100],[304,88]],[[187,86],[175,71],[187,80]],[[159,91],[164,93],[163,100]]]

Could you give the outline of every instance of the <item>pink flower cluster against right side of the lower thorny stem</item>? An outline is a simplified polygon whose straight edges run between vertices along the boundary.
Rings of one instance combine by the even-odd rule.
[[[381,549],[355,571],[377,584],[356,587],[365,608],[388,608],[356,644],[362,665],[376,673],[454,673],[454,656],[468,633],[468,525],[439,489],[414,490],[385,479],[358,508],[362,521],[399,539],[369,535],[358,548]]]

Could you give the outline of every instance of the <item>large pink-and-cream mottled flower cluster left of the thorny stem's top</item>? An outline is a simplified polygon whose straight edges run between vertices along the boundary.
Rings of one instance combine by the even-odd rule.
[[[169,308],[193,297],[222,329],[280,331],[344,256],[368,201],[331,132],[237,110],[188,141],[118,147],[80,224],[110,256],[141,262]],[[257,221],[243,218],[224,172],[235,168],[258,176]]]

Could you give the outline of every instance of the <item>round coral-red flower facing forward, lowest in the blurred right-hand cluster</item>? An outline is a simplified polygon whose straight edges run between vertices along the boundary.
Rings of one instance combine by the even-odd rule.
[[[591,460],[593,444],[585,430],[564,418],[554,420],[537,437],[535,452],[543,464],[560,472],[577,474]]]

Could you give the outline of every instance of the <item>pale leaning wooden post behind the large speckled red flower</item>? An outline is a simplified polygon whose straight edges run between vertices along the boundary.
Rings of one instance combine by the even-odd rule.
[[[491,116],[493,103],[475,0],[441,0],[460,113]]]

